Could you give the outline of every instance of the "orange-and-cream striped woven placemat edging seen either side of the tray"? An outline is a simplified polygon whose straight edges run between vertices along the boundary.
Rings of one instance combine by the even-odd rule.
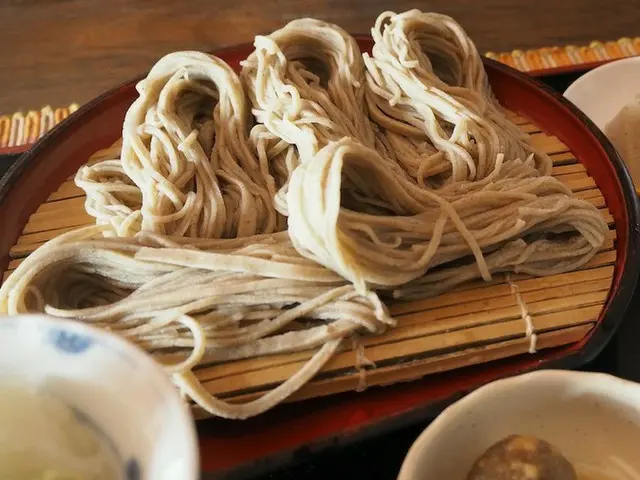
[[[589,45],[545,47],[511,52],[487,52],[486,56],[527,73],[579,67],[640,55],[640,37],[624,37],[611,42]],[[78,109],[78,105],[30,110],[0,116],[0,149],[30,145]]]

